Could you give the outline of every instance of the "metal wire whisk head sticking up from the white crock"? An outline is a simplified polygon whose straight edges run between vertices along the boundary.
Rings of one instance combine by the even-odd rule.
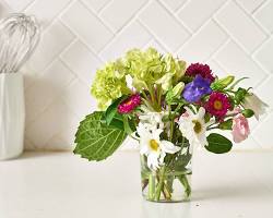
[[[0,21],[0,73],[15,73],[39,41],[39,26],[34,16],[13,13]]]

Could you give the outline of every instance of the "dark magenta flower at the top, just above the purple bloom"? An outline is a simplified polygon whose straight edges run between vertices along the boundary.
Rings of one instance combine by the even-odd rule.
[[[209,80],[211,83],[215,81],[215,77],[212,74],[212,70],[207,64],[192,63],[189,65],[185,74],[192,77],[201,75],[203,78]]]

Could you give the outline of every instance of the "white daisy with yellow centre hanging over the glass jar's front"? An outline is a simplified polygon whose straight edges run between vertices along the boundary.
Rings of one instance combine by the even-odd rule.
[[[161,141],[162,129],[149,129],[147,125],[139,123],[136,132],[140,135],[140,154],[147,157],[147,167],[152,170],[164,164],[166,154],[175,154],[180,147],[169,141]]]

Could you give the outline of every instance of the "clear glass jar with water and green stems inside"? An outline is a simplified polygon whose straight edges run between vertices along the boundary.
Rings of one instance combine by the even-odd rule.
[[[189,144],[180,152],[167,155],[157,170],[147,167],[147,158],[141,155],[142,195],[151,202],[186,202],[191,196],[191,157]]]

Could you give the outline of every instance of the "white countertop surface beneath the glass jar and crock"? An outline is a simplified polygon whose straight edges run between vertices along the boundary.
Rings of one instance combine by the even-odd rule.
[[[0,162],[0,218],[273,218],[273,153],[195,153],[192,201],[142,199],[136,152],[104,162],[25,153]]]

